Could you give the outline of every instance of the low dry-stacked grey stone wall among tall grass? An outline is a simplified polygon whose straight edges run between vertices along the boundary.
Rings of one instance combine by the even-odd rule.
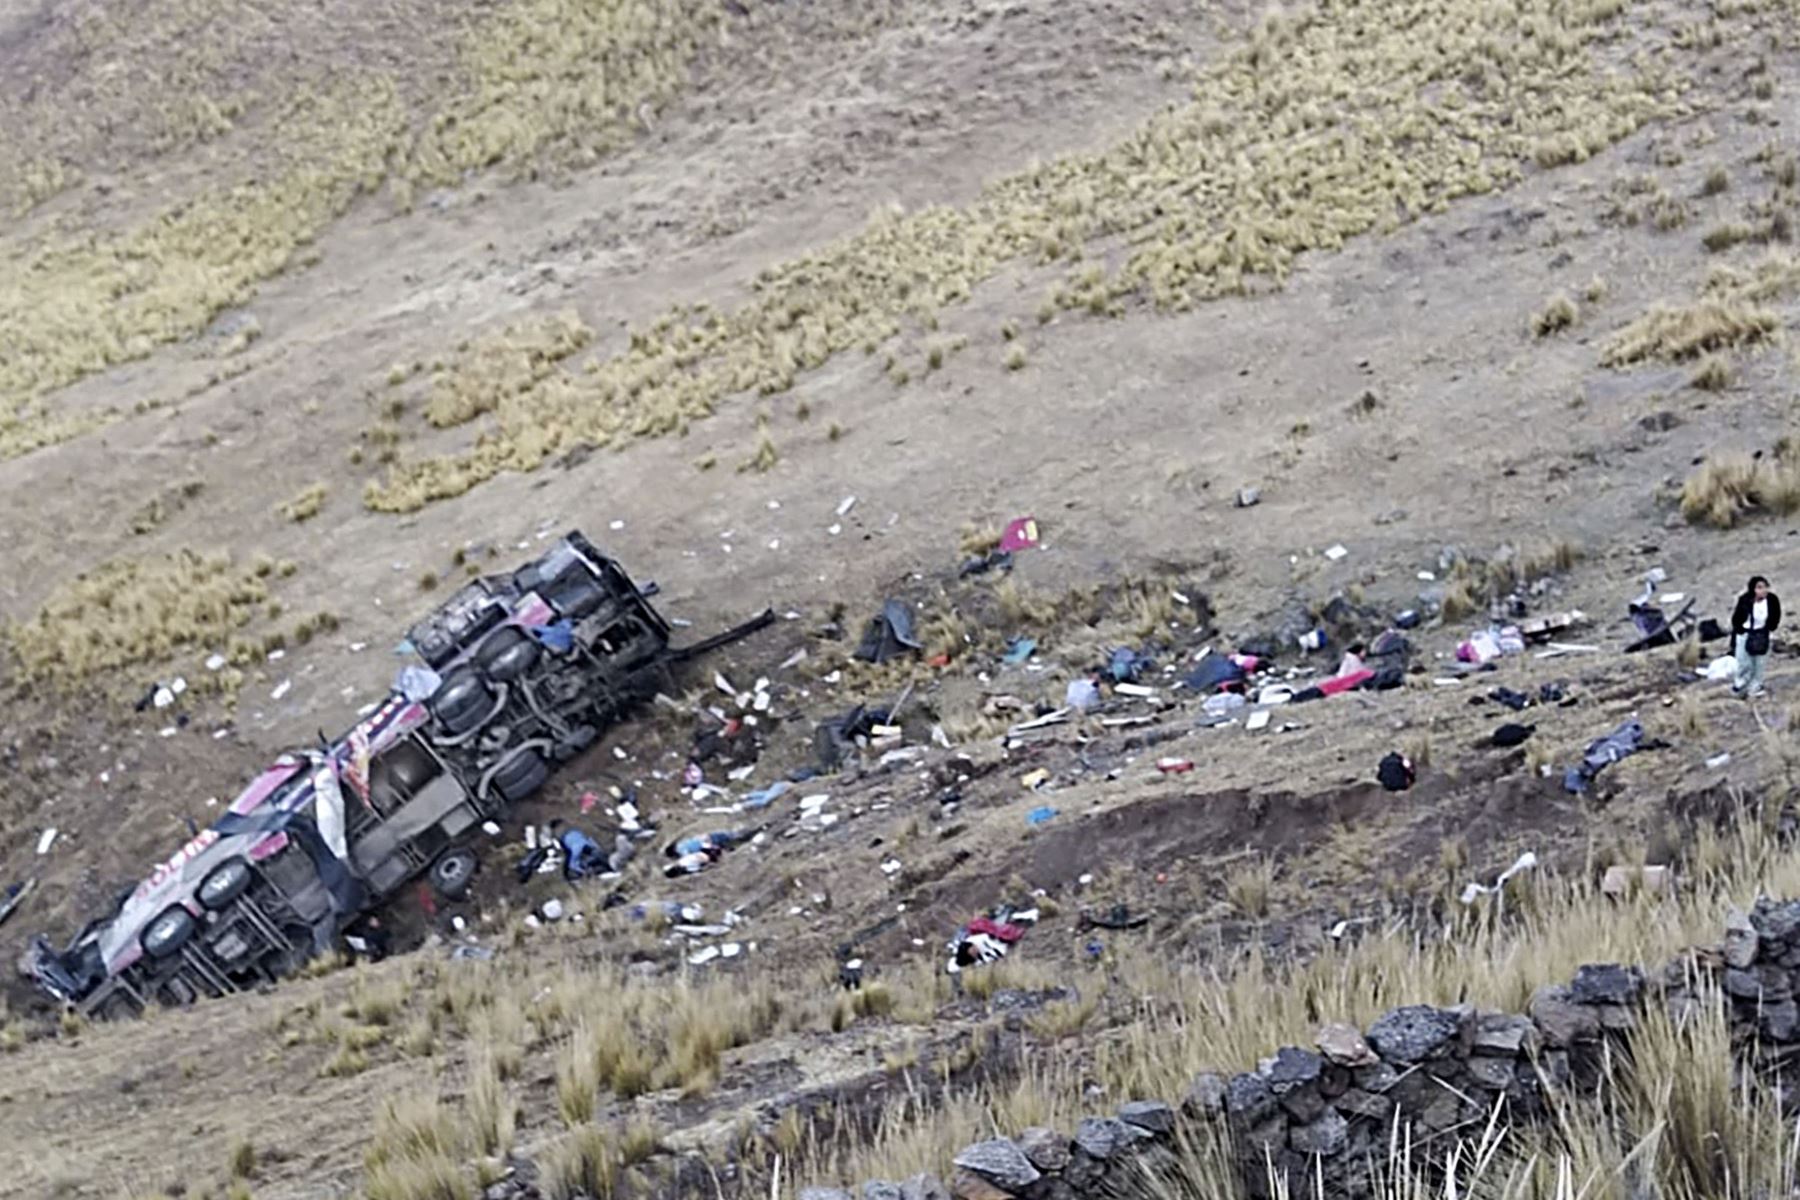
[[[1598,1083],[1607,1040],[1629,1038],[1647,1004],[1692,1007],[1723,993],[1744,1054],[1800,1042],[1800,901],[1733,912],[1717,948],[1645,975],[1593,964],[1541,988],[1523,1015],[1469,1006],[1397,1007],[1368,1029],[1325,1025],[1312,1047],[1287,1045],[1242,1074],[1202,1074],[1186,1096],[1132,1101],[1073,1133],[1024,1130],[965,1148],[949,1180],[873,1180],[860,1196],[814,1187],[799,1200],[1078,1200],[1138,1191],[1172,1166],[1183,1124],[1229,1132],[1249,1195],[1271,1191],[1271,1166],[1292,1195],[1373,1193],[1395,1119],[1424,1137],[1480,1137],[1505,1097],[1514,1124],[1546,1112],[1546,1088]]]

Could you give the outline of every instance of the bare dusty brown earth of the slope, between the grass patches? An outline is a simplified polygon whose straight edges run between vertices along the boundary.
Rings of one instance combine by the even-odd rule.
[[[0,261],[22,263],[45,230],[128,225],[236,178],[257,162],[263,101],[346,56],[364,67],[362,56],[410,54],[410,74],[400,72],[409,97],[452,79],[454,29],[436,20],[439,5],[400,5],[383,29],[340,7],[288,20],[286,5],[234,5],[245,22],[256,18],[243,25],[247,40],[196,54],[193,70],[216,94],[250,95],[245,117],[214,139],[167,144],[144,115],[162,112],[155,74],[142,72],[162,45],[157,36],[94,43],[112,47],[113,67],[83,41],[83,20],[122,5],[0,5],[7,135],[32,157],[79,167],[79,182],[20,218]],[[754,20],[742,16],[747,7]],[[844,351],[783,396],[731,396],[680,435],[569,453],[403,516],[365,507],[362,489],[380,470],[351,450],[369,444],[367,430],[391,423],[407,459],[470,441],[468,430],[418,419],[425,390],[409,363],[454,360],[472,336],[562,309],[580,313],[599,349],[614,351],[628,324],[643,329],[671,304],[729,308],[756,291],[760,272],[853,236],[882,205],[968,205],[986,182],[1033,160],[1118,142],[1186,101],[1192,72],[1240,45],[1260,16],[1172,0],[914,0],[871,9],[866,22],[839,20],[830,5],[725,9],[725,38],[707,43],[686,86],[596,166],[547,166],[538,180],[472,175],[423,189],[410,210],[364,198],[317,237],[315,261],[261,282],[207,333],[49,394],[56,414],[117,419],[0,462],[11,567],[0,578],[0,619],[29,622],[108,560],[218,549],[295,565],[270,579],[284,615],[259,615],[256,633],[313,612],[338,622],[279,660],[256,662],[234,703],[196,700],[193,720],[171,736],[162,736],[166,714],[133,714],[121,698],[175,673],[203,680],[200,660],[223,646],[184,646],[99,678],[27,680],[16,657],[5,660],[0,882],[38,878],[34,898],[0,930],[7,961],[34,932],[72,932],[185,837],[184,817],[205,820],[209,799],[374,700],[398,664],[400,630],[454,587],[464,560],[504,567],[540,534],[569,527],[655,579],[664,612],[691,622],[686,637],[763,606],[794,613],[682,680],[697,698],[711,691],[715,669],[740,685],[776,680],[785,712],[756,783],[806,759],[814,721],[893,698],[914,680],[907,730],[923,747],[920,761],[817,784],[848,813],[839,826],[783,837],[792,811],[770,810],[767,840],[704,876],[664,883],[641,862],[621,883],[632,900],[742,907],[743,939],[756,950],[731,970],[826,1006],[835,948],[886,918],[896,921],[859,945],[873,972],[895,979],[936,970],[963,919],[1033,889],[1058,912],[1033,930],[1026,954],[1062,977],[1085,970],[1076,964],[1093,932],[1078,927],[1080,907],[1112,901],[1154,919],[1103,934],[1109,943],[1139,939],[1202,963],[1244,945],[1307,954],[1339,919],[1431,919],[1445,887],[1487,878],[1521,849],[1570,873],[1669,860],[1697,808],[1764,786],[1780,757],[1764,729],[1782,725],[1795,678],[1786,664],[1773,671],[1775,698],[1750,707],[1701,691],[1670,651],[1627,658],[1618,648],[1629,637],[1625,601],[1652,565],[1719,617],[1751,570],[1782,588],[1800,565],[1784,516],[1750,513],[1717,531],[1683,522],[1672,502],[1703,455],[1773,455],[1791,423],[1793,353],[1777,338],[1773,349],[1732,356],[1726,387],[1699,389],[1692,362],[1611,369],[1602,351],[1652,306],[1692,304],[1708,270],[1748,270],[1789,252],[1778,225],[1742,245],[1708,248],[1703,237],[1793,210],[1793,176],[1780,176],[1782,157],[1791,162],[1796,149],[1800,59],[1780,41],[1791,5],[1629,7],[1624,20],[1651,45],[1676,47],[1690,81],[1678,108],[1582,162],[1528,166],[1501,191],[1406,212],[1393,232],[1301,255],[1278,288],[1258,284],[1179,313],[1136,304],[1118,317],[1071,309],[1040,322],[1040,297],[1064,270],[1015,261],[945,306],[938,329],[909,329],[873,354]],[[176,31],[189,27],[176,16],[194,20],[175,4],[157,13]],[[1719,41],[1683,32],[1706,20],[1742,32]],[[292,45],[292,61],[268,54],[268,40]],[[83,117],[43,133],[32,117],[41,95],[79,97],[70,104]],[[113,119],[99,119],[108,112]],[[1710,182],[1719,171],[1724,187]],[[1640,214],[1640,178],[1685,205],[1683,225],[1658,228]],[[1094,250],[1096,259],[1118,255],[1118,239]],[[1534,315],[1555,293],[1579,300],[1579,318],[1534,335]],[[1793,288],[1766,306],[1793,327]],[[259,336],[234,342],[247,318]],[[1008,324],[1015,342],[1003,342]],[[929,345],[958,335],[967,349],[927,369]],[[1024,347],[1021,369],[1008,369],[1010,344]],[[889,351],[913,363],[905,385],[886,367]],[[391,383],[396,365],[401,378]],[[389,419],[396,398],[403,416]],[[765,428],[778,459],[734,470]],[[709,459],[716,466],[697,466]],[[198,488],[184,491],[187,480]],[[315,482],[328,484],[315,516],[279,513]],[[1235,507],[1240,488],[1258,488],[1262,502]],[[839,515],[848,497],[855,506]],[[157,520],[140,522],[153,500]],[[1096,642],[1132,637],[1123,613],[1105,613],[1094,630],[1067,613],[1006,617],[1008,633],[1042,639],[1044,671],[1001,667],[990,640],[943,671],[823,678],[848,649],[815,635],[839,606],[851,639],[895,590],[923,596],[927,613],[941,612],[947,596],[990,613],[968,597],[994,581],[952,581],[959,536],[965,525],[1026,513],[1040,520],[1046,545],[1022,554],[1004,585],[1019,594],[1060,597],[1134,578],[1150,579],[1157,596],[1181,588],[1210,599],[1210,630],[1179,604],[1168,610],[1165,662],[1208,640],[1267,631],[1294,597],[1323,604],[1350,592],[1379,612],[1418,606],[1417,576],[1442,576],[1445,547],[1481,560],[1501,547],[1579,549],[1579,561],[1548,572],[1552,587],[1534,604],[1591,613],[1577,639],[1600,649],[1438,687],[1431,680],[1471,624],[1429,622],[1415,633],[1426,669],[1406,689],[1296,709],[1303,729],[1292,732],[1197,729],[1190,705],[1143,727],[1064,727],[1046,745],[1012,752],[994,741],[997,729],[974,725],[943,750],[931,725],[954,727],[983,694],[1055,702]],[[1348,554],[1328,560],[1332,545]],[[801,646],[808,662],[779,671]],[[1535,711],[1532,754],[1481,745],[1507,714],[1471,703],[1472,694],[1552,680],[1570,684],[1579,703]],[[1125,702],[1121,711],[1148,709]],[[1629,714],[1672,748],[1615,768],[1598,799],[1568,797],[1539,774]],[[635,955],[673,975],[682,948],[655,937],[617,934],[612,945],[614,930],[596,952],[567,927],[554,939],[518,936],[529,901],[509,889],[506,867],[518,824],[567,813],[576,795],[607,783],[641,786],[666,833],[713,824],[673,783],[689,732],[666,714],[621,727],[518,815],[486,855],[486,923],[470,912],[484,945],[531,964]],[[1170,739],[1129,745],[1145,734]],[[1381,754],[1427,743],[1413,792],[1395,797],[1372,783]],[[1705,765],[1724,750],[1728,765]],[[1159,756],[1190,757],[1197,770],[1163,775]],[[1049,783],[1026,792],[1021,777],[1037,766]],[[968,775],[961,808],[941,813],[936,801],[959,774]],[[1057,817],[1028,829],[1024,813],[1040,804]],[[61,837],[38,856],[49,826]],[[902,864],[891,878],[880,869],[889,856]],[[1249,903],[1242,880],[1258,864],[1269,898]],[[599,892],[572,900],[599,925],[598,901]],[[407,905],[409,928],[443,932],[450,914]],[[378,979],[441,955],[421,950]],[[256,1196],[353,1195],[378,1101],[414,1087],[423,1069],[455,1094],[466,1065],[454,1042],[425,1056],[382,1045],[365,1072],[322,1078],[328,1047],[270,1033],[283,1013],[315,997],[329,1009],[353,986],[364,986],[360,975],[355,984],[342,973],[297,981],[140,1027],[85,1031],[58,1031],[54,1013],[11,986],[13,1013],[32,1040],[0,1060],[0,1195],[148,1196],[178,1184],[200,1195],[223,1187],[227,1151],[245,1137],[261,1150]],[[947,1006],[918,1034],[927,1058],[985,1018],[979,1004]],[[884,1076],[893,1040],[868,1022],[785,1029],[733,1051],[709,1096],[659,1092],[608,1115],[650,1114],[670,1146],[715,1151],[742,1121],[779,1119],[810,1088],[860,1081],[859,1094],[882,1103],[882,1085],[871,1092],[869,1079]],[[538,1045],[524,1072],[526,1148],[558,1128],[553,1061],[549,1043]],[[268,1096],[270,1117],[245,1110],[245,1097]]]

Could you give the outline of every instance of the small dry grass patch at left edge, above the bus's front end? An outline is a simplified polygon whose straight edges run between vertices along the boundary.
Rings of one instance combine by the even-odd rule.
[[[112,560],[58,588],[36,617],[9,626],[5,640],[38,682],[160,664],[176,651],[225,648],[265,612],[272,574],[274,565],[245,569],[227,554],[193,551]]]

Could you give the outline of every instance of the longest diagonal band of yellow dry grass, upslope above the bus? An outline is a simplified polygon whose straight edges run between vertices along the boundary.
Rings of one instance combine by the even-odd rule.
[[[1532,162],[1586,158],[1663,112],[1679,90],[1665,52],[1631,72],[1589,59],[1615,13],[1379,0],[1269,16],[1192,103],[1118,144],[1003,178],[965,209],[884,210],[761,272],[731,313],[671,309],[590,369],[499,399],[466,450],[394,464],[367,502],[410,511],[576,444],[677,432],[729,394],[783,392],[844,349],[929,327],[1006,263],[1075,259],[1096,239],[1134,248],[1116,270],[1075,268],[1046,317],[1139,297],[1183,309],[1278,282],[1305,250],[1442,210]]]

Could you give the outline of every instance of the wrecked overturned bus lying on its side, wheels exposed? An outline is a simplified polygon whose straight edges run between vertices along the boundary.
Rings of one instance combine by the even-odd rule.
[[[283,754],[225,815],[25,968],[86,1015],[191,1004],[293,972],[419,874],[461,896],[459,838],[538,792],[558,763],[686,657],[639,588],[580,533],[511,574],[470,581],[409,630],[421,664],[337,739]]]

